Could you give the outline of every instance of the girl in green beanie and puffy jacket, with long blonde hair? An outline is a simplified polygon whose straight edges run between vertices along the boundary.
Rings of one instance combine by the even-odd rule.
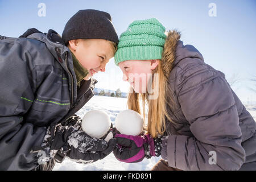
[[[115,135],[118,160],[161,155],[155,170],[256,169],[253,117],[224,73],[184,46],[179,32],[166,36],[157,19],[135,20],[119,38],[115,64],[131,84],[129,109],[142,113],[142,101],[148,114],[147,134]],[[157,97],[150,97],[152,90]]]

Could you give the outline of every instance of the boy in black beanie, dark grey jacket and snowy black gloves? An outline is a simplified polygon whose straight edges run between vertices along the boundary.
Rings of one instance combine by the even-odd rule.
[[[74,114],[116,51],[111,16],[80,10],[62,38],[31,28],[0,39],[0,170],[51,170],[65,156],[90,163],[110,154],[115,139],[90,138]]]

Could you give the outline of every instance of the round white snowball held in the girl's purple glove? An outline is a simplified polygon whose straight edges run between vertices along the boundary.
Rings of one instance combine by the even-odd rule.
[[[139,135],[143,129],[143,118],[134,110],[123,110],[115,118],[115,127],[121,134]]]

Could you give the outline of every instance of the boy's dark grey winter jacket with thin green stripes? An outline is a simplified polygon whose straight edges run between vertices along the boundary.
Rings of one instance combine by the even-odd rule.
[[[0,40],[0,170],[38,167],[33,146],[94,95],[96,80],[77,90],[72,55],[53,30]]]

